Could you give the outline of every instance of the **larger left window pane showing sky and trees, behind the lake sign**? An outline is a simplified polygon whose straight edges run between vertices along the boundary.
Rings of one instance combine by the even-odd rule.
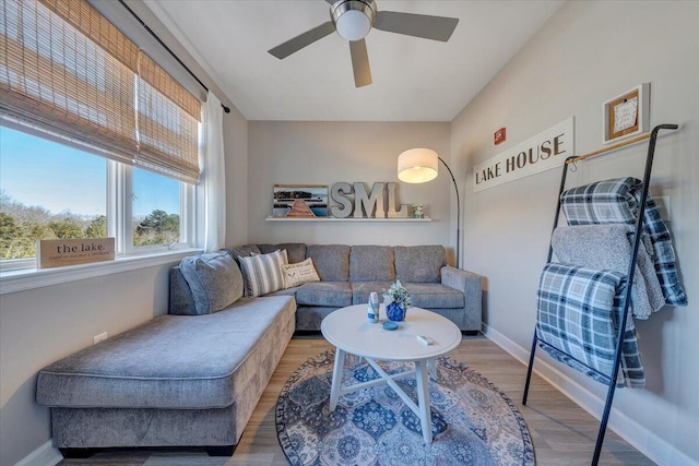
[[[107,236],[107,160],[0,127],[0,260],[39,239]]]

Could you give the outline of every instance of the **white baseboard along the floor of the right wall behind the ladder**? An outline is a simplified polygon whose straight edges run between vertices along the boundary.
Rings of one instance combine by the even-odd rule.
[[[523,348],[495,328],[483,324],[484,335],[493,343],[512,355],[514,359],[529,365],[530,347]],[[537,351],[538,355],[538,351]],[[560,393],[600,420],[604,410],[605,399],[593,394],[573,379],[569,378],[545,359],[535,358],[534,372],[552,384]],[[524,381],[522,381],[522,386]],[[612,406],[612,414],[607,428],[661,466],[699,466],[699,462],[678,451],[674,445],[661,439],[654,432],[627,417]]]

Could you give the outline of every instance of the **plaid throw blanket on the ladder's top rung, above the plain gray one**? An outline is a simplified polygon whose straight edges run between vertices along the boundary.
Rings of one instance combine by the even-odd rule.
[[[643,182],[636,178],[618,178],[572,188],[560,195],[568,225],[635,224]],[[687,295],[679,284],[675,250],[670,230],[649,194],[643,213],[643,234],[650,239],[655,273],[671,306],[687,306]],[[644,243],[645,241],[643,241]]]

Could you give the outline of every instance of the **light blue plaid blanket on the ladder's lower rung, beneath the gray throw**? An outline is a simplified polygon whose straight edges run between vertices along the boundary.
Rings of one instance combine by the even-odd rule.
[[[625,274],[546,264],[536,292],[540,346],[599,382],[608,384],[616,379],[617,386],[643,387],[645,375],[630,313],[624,332],[620,371],[612,377],[625,292]]]

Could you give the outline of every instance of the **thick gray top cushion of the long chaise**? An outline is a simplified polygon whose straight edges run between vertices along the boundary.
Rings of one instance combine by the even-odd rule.
[[[209,315],[156,316],[43,369],[37,402],[155,409],[244,403],[236,399],[245,386],[235,383],[240,367],[254,348],[282,339],[277,328],[294,319],[295,310],[291,297],[280,296],[242,298]]]

